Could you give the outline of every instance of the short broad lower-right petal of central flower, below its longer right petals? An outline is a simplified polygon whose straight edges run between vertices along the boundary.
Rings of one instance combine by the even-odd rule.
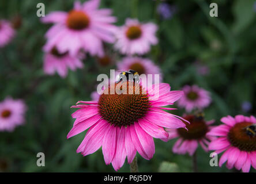
[[[162,127],[159,127],[156,124],[142,119],[138,121],[138,124],[140,124],[140,127],[152,137],[159,139],[168,137],[168,133],[165,132]]]

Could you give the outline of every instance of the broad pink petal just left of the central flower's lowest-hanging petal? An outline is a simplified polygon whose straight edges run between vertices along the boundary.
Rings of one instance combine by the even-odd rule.
[[[104,156],[105,163],[108,165],[112,162],[115,155],[116,149],[116,127],[109,124],[106,129],[105,136],[102,143],[102,152]]]

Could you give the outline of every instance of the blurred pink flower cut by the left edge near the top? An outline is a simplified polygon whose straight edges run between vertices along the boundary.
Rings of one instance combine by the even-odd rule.
[[[16,32],[12,28],[10,22],[6,20],[0,20],[0,48],[9,44],[15,34]]]

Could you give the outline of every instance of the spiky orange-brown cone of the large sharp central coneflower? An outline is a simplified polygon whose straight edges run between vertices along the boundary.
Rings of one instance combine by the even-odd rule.
[[[134,124],[140,118],[145,117],[150,108],[148,94],[144,94],[140,85],[129,85],[124,82],[125,89],[118,86],[118,89],[126,90],[126,94],[110,94],[111,86],[106,89],[108,94],[102,94],[99,98],[99,113],[104,120],[118,127]],[[116,83],[121,85],[121,83]],[[114,86],[114,85],[113,85]],[[106,92],[105,90],[105,92]],[[129,94],[133,91],[133,94]],[[138,94],[138,92],[140,92]]]

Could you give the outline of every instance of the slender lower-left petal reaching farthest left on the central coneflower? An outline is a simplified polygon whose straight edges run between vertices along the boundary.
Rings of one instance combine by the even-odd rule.
[[[67,139],[77,135],[78,133],[84,132],[86,129],[88,129],[89,127],[94,125],[99,120],[100,120],[100,116],[99,115],[95,115],[95,116],[92,116],[92,117],[90,117],[90,118],[88,118],[88,119],[86,119],[84,121],[79,122],[67,134]]]

